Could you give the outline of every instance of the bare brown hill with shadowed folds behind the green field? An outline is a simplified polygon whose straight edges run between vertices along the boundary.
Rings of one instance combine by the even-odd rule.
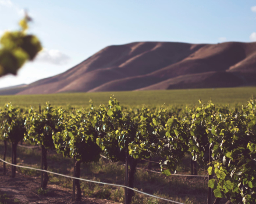
[[[255,79],[256,42],[134,42],[108,46],[62,74],[12,93],[219,88],[255,85]]]

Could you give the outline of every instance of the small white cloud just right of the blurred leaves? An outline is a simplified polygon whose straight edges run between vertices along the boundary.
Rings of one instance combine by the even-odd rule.
[[[41,61],[45,63],[63,65],[67,64],[70,57],[66,54],[60,52],[59,50],[47,50],[43,49],[35,59],[36,61]]]

